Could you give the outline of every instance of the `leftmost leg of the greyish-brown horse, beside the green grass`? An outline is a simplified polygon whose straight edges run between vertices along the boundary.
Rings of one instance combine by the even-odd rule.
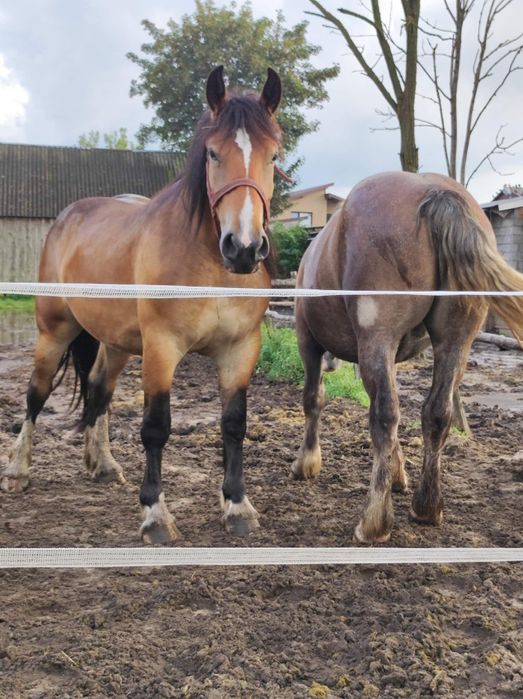
[[[297,479],[317,476],[321,470],[321,447],[319,422],[325,405],[322,382],[323,348],[303,326],[298,329],[298,344],[305,370],[303,388],[303,412],[305,413],[305,433],[296,460],[292,464],[292,474]]]

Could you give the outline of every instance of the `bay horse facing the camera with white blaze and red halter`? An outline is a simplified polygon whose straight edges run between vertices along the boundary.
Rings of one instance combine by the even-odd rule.
[[[40,281],[270,288],[268,224],[281,145],[275,118],[281,91],[278,74],[269,69],[261,95],[229,94],[223,66],[215,68],[206,85],[209,110],[197,126],[182,177],[151,200],[123,195],[68,206],[48,234]],[[96,481],[124,482],[109,448],[107,410],[130,355],[141,355],[140,535],[147,543],[174,540],[177,529],[161,484],[169,393],[180,360],[198,352],[218,369],[224,522],[236,534],[254,529],[258,516],[245,493],[242,449],[246,389],[267,305],[268,298],[38,297],[27,413],[2,488],[27,488],[35,421],[69,357],[84,399],[85,465]]]

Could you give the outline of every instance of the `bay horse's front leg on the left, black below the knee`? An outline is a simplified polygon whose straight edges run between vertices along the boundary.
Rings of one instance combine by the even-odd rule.
[[[145,409],[141,429],[145,448],[145,473],[140,489],[140,504],[145,519],[140,527],[144,543],[174,541],[178,531],[174,517],[165,504],[162,491],[162,452],[171,429],[170,390],[174,370],[182,358],[175,342],[155,334],[144,342],[143,388]]]

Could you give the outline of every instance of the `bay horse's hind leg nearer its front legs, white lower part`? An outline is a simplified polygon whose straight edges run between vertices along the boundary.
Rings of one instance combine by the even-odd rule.
[[[89,374],[87,401],[83,416],[85,426],[84,461],[95,481],[125,483],[122,467],[109,447],[109,413],[116,380],[129,355],[100,345]]]

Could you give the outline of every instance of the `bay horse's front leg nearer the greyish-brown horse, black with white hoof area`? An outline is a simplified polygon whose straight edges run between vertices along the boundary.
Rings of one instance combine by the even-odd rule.
[[[216,357],[222,399],[223,521],[227,531],[237,536],[249,534],[259,526],[258,513],[245,494],[243,477],[247,386],[259,351],[260,333],[256,331],[241,342],[223,347]]]

